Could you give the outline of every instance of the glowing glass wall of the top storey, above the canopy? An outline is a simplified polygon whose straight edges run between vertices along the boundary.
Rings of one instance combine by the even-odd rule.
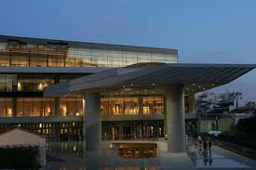
[[[107,48],[107,47],[106,47]],[[177,54],[93,47],[0,44],[0,66],[124,67],[139,62],[177,63]]]

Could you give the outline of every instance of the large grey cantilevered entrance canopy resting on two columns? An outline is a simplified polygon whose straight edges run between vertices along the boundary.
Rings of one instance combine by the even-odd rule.
[[[51,85],[44,96],[79,95],[86,91],[112,92],[152,90],[165,93],[168,85],[185,85],[185,94],[194,94],[225,85],[253,70],[252,64],[163,64],[143,68],[114,68],[83,76],[69,82]]]

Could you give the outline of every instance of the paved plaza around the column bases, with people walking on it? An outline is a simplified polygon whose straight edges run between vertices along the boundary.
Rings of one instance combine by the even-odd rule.
[[[47,151],[47,169],[84,170],[160,170],[160,169],[256,169],[256,162],[237,155],[234,152],[213,146],[204,151],[195,146],[194,141],[187,142],[187,153],[168,153],[167,142],[157,143],[157,157],[149,159],[121,158],[116,150],[109,148],[111,141],[102,142],[101,156],[90,154],[84,159],[81,142],[50,143]],[[145,141],[115,141],[145,142]],[[50,156],[50,157],[49,157]]]

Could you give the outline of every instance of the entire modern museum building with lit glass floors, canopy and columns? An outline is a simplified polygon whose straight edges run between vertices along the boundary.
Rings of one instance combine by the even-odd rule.
[[[87,136],[92,150],[101,139],[168,134],[168,150],[183,151],[197,129],[195,93],[254,68],[180,64],[176,49],[2,35],[0,128],[20,125],[54,141]]]

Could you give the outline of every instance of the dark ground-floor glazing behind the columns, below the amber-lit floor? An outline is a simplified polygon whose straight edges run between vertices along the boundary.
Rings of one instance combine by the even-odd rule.
[[[20,125],[23,128],[47,136],[48,141],[79,141],[83,140],[83,123],[55,122],[55,123],[20,123],[20,124],[0,124],[0,129],[8,128],[12,125]],[[185,121],[186,133],[195,136],[197,132],[196,119]],[[133,120],[133,121],[103,121],[101,128],[102,140],[155,140],[165,136],[164,120]]]

